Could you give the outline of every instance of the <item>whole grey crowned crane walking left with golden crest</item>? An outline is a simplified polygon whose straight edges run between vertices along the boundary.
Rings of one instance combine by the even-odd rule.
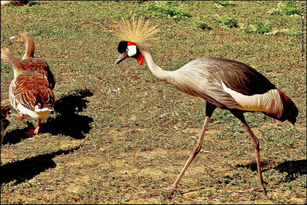
[[[251,135],[255,149],[259,185],[254,190],[260,190],[266,196],[260,164],[259,139],[244,119],[244,112],[262,112],[274,119],[296,122],[298,109],[294,102],[266,77],[250,66],[235,60],[223,58],[199,58],[192,60],[181,68],[167,71],[160,68],[154,61],[150,50],[157,33],[157,26],[144,19],[122,19],[113,29],[119,42],[119,58],[114,65],[126,58],[135,58],[139,65],[144,60],[151,72],[160,80],[172,84],[178,90],[207,101],[206,114],[201,135],[197,144],[184,165],[181,173],[166,191],[168,197],[177,191],[177,185],[192,160],[199,153],[209,119],[216,108],[229,110],[241,120],[247,132]]]

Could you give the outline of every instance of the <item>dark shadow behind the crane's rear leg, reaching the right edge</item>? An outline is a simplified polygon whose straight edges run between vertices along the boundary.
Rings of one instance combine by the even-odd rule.
[[[300,173],[306,174],[306,159],[301,160],[293,160],[293,161],[286,161],[283,163],[278,164],[277,166],[273,167],[273,169],[278,170],[279,172],[286,172],[288,173],[287,176],[291,177],[293,174]],[[269,165],[272,164],[271,162],[261,162],[261,165]],[[257,163],[251,163],[248,165],[236,165],[236,167],[245,167],[251,169],[252,171],[257,171]],[[269,169],[262,169],[262,172],[267,171]],[[295,177],[292,177],[293,180]]]

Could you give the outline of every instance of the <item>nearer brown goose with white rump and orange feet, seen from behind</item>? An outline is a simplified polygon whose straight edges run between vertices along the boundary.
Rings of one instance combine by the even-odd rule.
[[[28,135],[37,135],[41,120],[46,120],[51,111],[54,111],[54,95],[49,87],[46,76],[25,70],[19,59],[10,53],[9,49],[1,48],[1,59],[13,67],[14,79],[10,84],[10,103],[17,111],[20,120],[24,116],[38,119],[35,130],[26,132]]]

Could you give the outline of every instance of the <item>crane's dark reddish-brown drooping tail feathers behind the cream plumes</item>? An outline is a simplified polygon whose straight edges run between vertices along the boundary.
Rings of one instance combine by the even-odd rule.
[[[279,96],[282,100],[282,115],[281,116],[276,116],[272,113],[268,113],[268,112],[262,112],[267,116],[270,116],[276,120],[280,120],[280,121],[285,121],[285,120],[289,120],[290,123],[292,123],[294,125],[294,123],[296,122],[296,117],[298,116],[298,109],[295,105],[295,103],[290,99],[290,97],[288,97],[282,90],[280,90],[279,88],[277,88]]]

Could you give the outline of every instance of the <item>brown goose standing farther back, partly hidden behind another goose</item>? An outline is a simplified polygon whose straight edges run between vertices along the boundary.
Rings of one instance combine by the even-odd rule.
[[[16,36],[10,37],[10,40],[14,40]],[[56,84],[56,78],[51,72],[48,63],[40,58],[34,58],[34,41],[32,36],[28,32],[22,32],[19,34],[16,43],[25,44],[25,54],[22,57],[21,65],[28,71],[34,71],[43,74],[47,77],[50,88],[53,89]]]

